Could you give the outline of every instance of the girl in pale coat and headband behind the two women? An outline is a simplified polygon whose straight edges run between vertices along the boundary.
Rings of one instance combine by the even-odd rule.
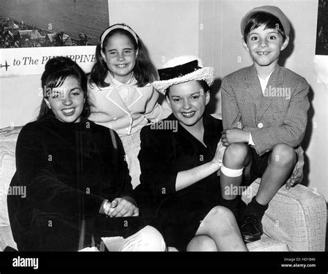
[[[95,60],[89,74],[89,119],[118,132],[136,187],[140,130],[167,116],[150,85],[157,78],[156,69],[140,37],[126,24],[109,26],[102,33]]]

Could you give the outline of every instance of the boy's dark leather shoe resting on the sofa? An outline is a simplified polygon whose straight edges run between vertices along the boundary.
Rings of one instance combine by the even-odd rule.
[[[242,237],[246,243],[261,239],[263,228],[261,223],[262,218],[254,214],[246,214],[240,225]]]

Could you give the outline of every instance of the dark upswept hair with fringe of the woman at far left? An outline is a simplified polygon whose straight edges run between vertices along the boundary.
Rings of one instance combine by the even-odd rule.
[[[48,99],[51,94],[51,90],[54,87],[60,87],[68,76],[78,79],[84,93],[84,98],[86,99],[87,78],[79,65],[71,60],[71,58],[63,56],[51,58],[48,62],[46,62],[44,73],[41,76],[43,99],[37,120],[53,114],[53,111],[48,108],[44,99]],[[81,117],[88,117],[90,114],[90,108],[87,101],[88,100],[85,100]]]

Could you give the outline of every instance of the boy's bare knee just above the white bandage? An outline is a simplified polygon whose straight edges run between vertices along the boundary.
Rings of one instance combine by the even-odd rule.
[[[244,143],[233,143],[224,152],[224,164],[244,164],[248,155],[248,146]],[[230,167],[231,168],[231,167]]]

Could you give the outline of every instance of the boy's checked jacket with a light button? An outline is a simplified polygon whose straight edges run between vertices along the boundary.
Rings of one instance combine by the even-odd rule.
[[[222,121],[224,129],[250,132],[259,155],[276,144],[300,145],[307,127],[309,84],[293,71],[277,65],[266,89],[255,66],[245,67],[222,80]]]

